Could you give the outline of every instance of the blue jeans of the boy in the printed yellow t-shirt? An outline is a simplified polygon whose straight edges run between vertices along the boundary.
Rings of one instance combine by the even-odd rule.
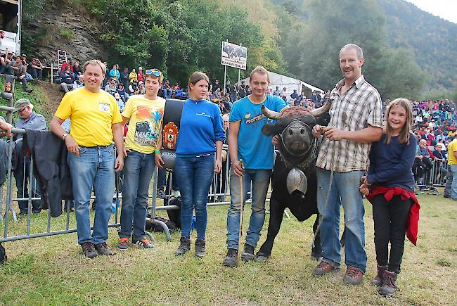
[[[145,224],[148,214],[148,191],[154,173],[154,153],[137,151],[124,159],[124,185],[122,186],[121,238],[130,238],[134,227],[134,240],[146,238]]]

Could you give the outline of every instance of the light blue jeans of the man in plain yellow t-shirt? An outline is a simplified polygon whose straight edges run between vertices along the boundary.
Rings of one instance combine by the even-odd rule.
[[[78,243],[103,243],[108,239],[112,195],[115,189],[114,145],[79,146],[79,155],[68,153],[68,167],[73,181]],[[97,198],[94,231],[91,234],[89,202],[92,186]]]

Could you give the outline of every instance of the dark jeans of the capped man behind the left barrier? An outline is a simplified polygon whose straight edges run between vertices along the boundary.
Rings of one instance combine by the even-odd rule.
[[[20,157],[20,162],[14,171],[14,179],[16,180],[16,188],[18,188],[18,198],[28,198],[29,191],[32,192],[32,198],[40,198],[41,191],[39,181],[32,176],[32,181],[29,182],[30,177],[30,158]],[[29,184],[30,183],[30,184]],[[30,187],[31,185],[31,187]],[[32,200],[32,212],[40,212],[40,200]],[[28,200],[18,201],[19,209],[21,212],[27,213],[29,210]]]

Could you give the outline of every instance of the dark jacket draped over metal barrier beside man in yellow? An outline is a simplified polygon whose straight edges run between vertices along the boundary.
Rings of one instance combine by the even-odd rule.
[[[22,152],[30,151],[34,174],[41,186],[41,207],[51,210],[52,217],[62,214],[62,200],[72,200],[72,179],[67,165],[67,147],[51,131],[27,129]]]

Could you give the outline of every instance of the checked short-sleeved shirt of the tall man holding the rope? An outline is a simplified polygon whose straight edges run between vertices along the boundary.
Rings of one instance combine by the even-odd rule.
[[[330,123],[345,131],[359,131],[368,126],[382,127],[382,101],[378,91],[361,75],[356,82],[340,95],[345,79],[337,82],[330,93]],[[316,167],[335,172],[365,171],[371,144],[342,139],[330,141],[324,138],[318,153]],[[332,169],[333,167],[333,169]]]

